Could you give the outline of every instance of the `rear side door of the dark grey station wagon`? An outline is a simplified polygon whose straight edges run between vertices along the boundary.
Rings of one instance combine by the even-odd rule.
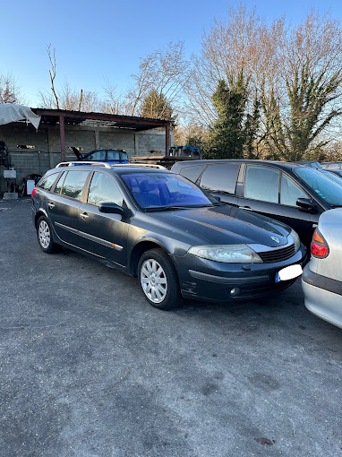
[[[73,246],[79,246],[79,207],[89,173],[84,169],[64,171],[53,193],[47,195],[47,211],[57,236]]]

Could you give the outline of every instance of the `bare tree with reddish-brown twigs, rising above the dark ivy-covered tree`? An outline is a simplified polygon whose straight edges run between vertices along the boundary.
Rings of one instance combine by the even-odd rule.
[[[203,34],[201,54],[192,56],[192,73],[186,88],[188,109],[201,124],[209,126],[215,119],[212,95],[219,81],[235,86],[242,71],[251,80],[258,58],[260,27],[261,19],[255,10],[247,12],[239,4],[237,9],[228,10],[227,22],[215,20],[209,33]]]

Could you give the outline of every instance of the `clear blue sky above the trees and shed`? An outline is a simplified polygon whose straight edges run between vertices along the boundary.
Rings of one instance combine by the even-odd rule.
[[[69,82],[83,91],[103,93],[106,82],[127,88],[140,58],[170,41],[182,40],[187,56],[201,49],[201,35],[214,18],[225,20],[232,0],[59,0],[4,2],[1,7],[0,73],[12,73],[37,106],[38,91],[49,89],[47,46],[56,48],[56,87]],[[256,0],[243,2],[267,22],[286,15],[304,20],[312,8],[342,19],[342,1]]]

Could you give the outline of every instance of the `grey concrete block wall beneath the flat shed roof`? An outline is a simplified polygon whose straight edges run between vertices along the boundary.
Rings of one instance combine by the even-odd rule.
[[[33,125],[12,123],[0,125],[0,140],[4,141],[17,170],[17,184],[31,173],[43,175],[61,161],[59,125]],[[172,145],[172,138],[170,139]],[[17,145],[32,145],[34,149],[19,149]],[[149,151],[165,152],[165,130],[154,129],[135,132],[130,129],[94,127],[85,125],[65,125],[66,160],[74,160],[69,147],[80,147],[83,153],[95,149],[124,149],[131,158],[133,155],[148,155]],[[0,166],[0,174],[3,168]],[[4,192],[4,181],[0,180],[0,193]]]

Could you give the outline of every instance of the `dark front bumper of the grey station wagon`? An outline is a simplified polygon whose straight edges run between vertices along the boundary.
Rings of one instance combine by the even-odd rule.
[[[286,289],[295,279],[276,283],[279,270],[291,264],[304,265],[306,252],[301,248],[293,257],[275,263],[218,263],[192,254],[174,258],[182,295],[185,298],[227,301],[262,297]]]

